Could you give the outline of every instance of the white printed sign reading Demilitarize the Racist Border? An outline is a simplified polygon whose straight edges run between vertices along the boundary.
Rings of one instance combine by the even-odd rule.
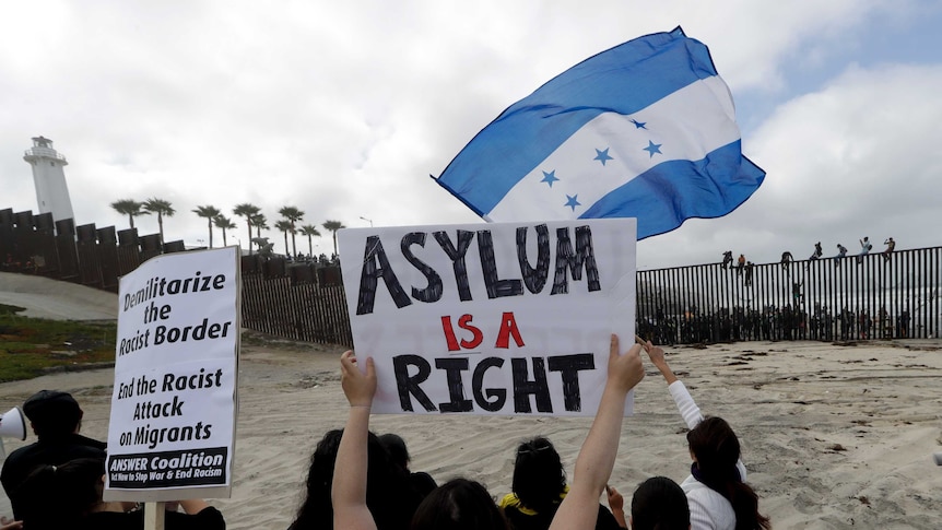
[[[239,293],[236,247],[121,278],[105,500],[229,496]]]

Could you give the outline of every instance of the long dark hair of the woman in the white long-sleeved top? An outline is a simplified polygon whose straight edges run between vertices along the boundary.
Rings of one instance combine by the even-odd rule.
[[[730,502],[737,530],[772,528],[758,513],[758,495],[739,475],[740,445],[732,427],[721,417],[708,416],[687,433],[687,444],[696,458],[694,476]]]

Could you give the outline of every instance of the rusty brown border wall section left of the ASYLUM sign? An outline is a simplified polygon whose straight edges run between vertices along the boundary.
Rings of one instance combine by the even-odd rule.
[[[36,274],[118,292],[118,279],[154,256],[186,251],[160,234],[115,231],[51,213],[0,210],[0,271]],[[242,258],[243,326],[285,339],[353,345],[338,266]]]

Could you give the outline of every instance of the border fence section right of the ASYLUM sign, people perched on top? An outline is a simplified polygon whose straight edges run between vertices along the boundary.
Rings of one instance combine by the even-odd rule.
[[[942,247],[639,271],[638,333],[663,344],[938,338]]]

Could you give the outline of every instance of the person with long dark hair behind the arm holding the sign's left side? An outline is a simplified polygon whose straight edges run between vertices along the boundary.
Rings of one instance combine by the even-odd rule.
[[[329,431],[317,444],[307,473],[307,494],[289,530],[333,528],[331,487],[342,437],[343,431]],[[393,462],[379,437],[373,433],[368,433],[366,458],[366,504],[376,517],[378,528],[407,528],[422,495],[412,487],[408,471]]]

